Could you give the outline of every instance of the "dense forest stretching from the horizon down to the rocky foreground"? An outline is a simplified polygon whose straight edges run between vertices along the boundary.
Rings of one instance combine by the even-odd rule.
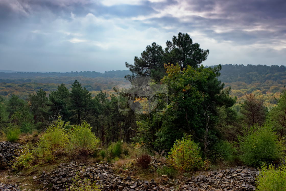
[[[51,133],[57,123],[74,135],[73,128],[89,124],[102,147],[123,141],[167,151],[170,166],[182,172],[208,169],[209,162],[259,167],[282,159],[285,66],[204,67],[208,54],[179,33],[165,49],[153,43],[134,64],[126,62],[130,72],[1,73],[1,132]],[[137,83],[141,77],[151,79]],[[123,79],[130,89],[118,86]],[[134,111],[130,92],[138,89],[157,97],[135,94]]]

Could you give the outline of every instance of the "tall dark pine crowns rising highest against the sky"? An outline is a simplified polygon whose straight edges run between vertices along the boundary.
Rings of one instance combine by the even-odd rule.
[[[141,57],[134,57],[134,64],[125,62],[132,75],[125,78],[132,81],[133,78],[141,76],[151,76],[155,81],[166,75],[164,64],[176,64],[181,66],[181,70],[187,65],[198,67],[202,61],[206,60],[209,50],[203,50],[198,43],[193,43],[190,36],[186,33],[179,33],[178,37],[173,36],[172,42],[167,40],[165,51],[162,46],[155,42],[147,46],[141,53]]]

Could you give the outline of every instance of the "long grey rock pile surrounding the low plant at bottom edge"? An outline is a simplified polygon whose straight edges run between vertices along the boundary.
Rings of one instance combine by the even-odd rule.
[[[57,170],[50,173],[43,172],[39,177],[39,181],[43,183],[44,190],[65,190],[70,188],[73,183],[73,177],[78,174],[81,180],[89,178],[92,182],[96,182],[101,186],[101,190],[118,190],[118,191],[135,191],[135,190],[169,190],[158,186],[152,179],[151,182],[132,178],[131,176],[122,177],[113,173],[110,164],[95,164],[93,166],[84,166],[71,162],[69,164],[60,164]],[[34,178],[34,177],[33,177]],[[35,178],[35,181],[37,179]],[[51,188],[47,188],[48,186]]]

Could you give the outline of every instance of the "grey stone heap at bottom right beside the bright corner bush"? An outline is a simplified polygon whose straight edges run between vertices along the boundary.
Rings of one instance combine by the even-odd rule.
[[[222,190],[240,191],[255,190],[255,178],[259,171],[245,168],[245,166],[235,169],[227,169],[209,172],[208,175],[192,177],[180,186],[180,190]]]

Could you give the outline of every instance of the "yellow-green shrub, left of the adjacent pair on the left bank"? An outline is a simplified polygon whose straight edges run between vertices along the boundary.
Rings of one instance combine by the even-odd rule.
[[[40,137],[39,148],[43,157],[50,159],[49,155],[55,159],[57,155],[63,153],[68,146],[68,135],[63,129],[64,122],[61,119],[50,125],[46,132]]]

